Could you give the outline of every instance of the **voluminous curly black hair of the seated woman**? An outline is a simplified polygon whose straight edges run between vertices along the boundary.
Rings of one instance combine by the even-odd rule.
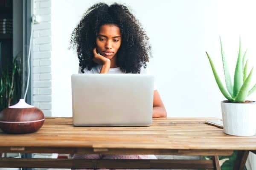
[[[140,22],[125,5],[96,3],[85,12],[71,34],[70,46],[76,48],[81,72],[97,65],[93,62],[93,48],[99,28],[104,24],[115,24],[120,29],[122,42],[116,60],[120,69],[125,73],[140,73],[142,66],[146,68],[152,57],[151,45]]]

